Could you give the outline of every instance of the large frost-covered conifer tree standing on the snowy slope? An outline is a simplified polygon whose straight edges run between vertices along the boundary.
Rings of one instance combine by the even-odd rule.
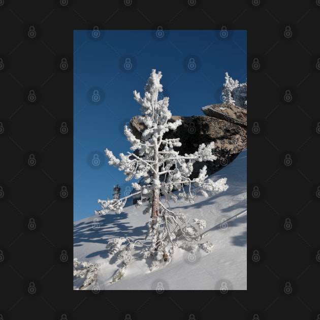
[[[109,158],[109,165],[118,167],[126,175],[125,181],[133,178],[140,179],[143,183],[133,182],[134,191],[126,197],[113,200],[98,200],[102,210],[95,211],[95,214],[107,214],[109,211],[121,213],[125,202],[130,197],[138,197],[136,207],[140,207],[144,200],[148,200],[148,206],[143,210],[143,214],[150,215],[146,225],[148,233],[144,240],[132,242],[129,239],[112,239],[107,248],[112,254],[117,253],[118,259],[123,259],[123,267],[114,276],[114,281],[123,275],[123,268],[130,264],[131,251],[137,247],[141,249],[143,257],[151,257],[154,261],[151,270],[161,262],[170,262],[174,254],[174,248],[189,248],[193,252],[197,247],[201,247],[206,252],[210,251],[211,243],[199,243],[204,237],[199,230],[206,227],[205,220],[190,218],[183,212],[176,212],[171,209],[169,202],[177,202],[179,198],[194,203],[195,195],[192,193],[193,184],[199,192],[208,197],[208,193],[218,193],[228,188],[227,179],[222,178],[217,181],[206,179],[206,166],[200,170],[197,178],[190,179],[193,172],[193,164],[196,161],[213,161],[216,156],[212,154],[214,142],[209,145],[201,144],[198,151],[193,154],[179,154],[175,147],[181,146],[179,138],[165,139],[164,134],[169,130],[175,130],[181,120],[168,122],[171,112],[168,110],[169,98],[164,97],[158,100],[158,93],[163,91],[160,79],[162,73],[152,70],[148,82],[144,88],[144,97],[136,90],[134,99],[141,105],[142,116],[138,116],[138,121],[145,125],[141,139],[137,139],[131,129],[124,126],[124,134],[131,143],[131,150],[119,154],[116,158],[112,151],[106,149],[106,156]],[[173,191],[177,190],[177,194]],[[163,197],[161,197],[161,195]],[[196,228],[197,227],[197,228]],[[150,239],[151,238],[151,239]],[[123,244],[127,242],[127,244]],[[128,254],[130,253],[130,254]],[[125,258],[126,257],[126,258]],[[125,259],[124,259],[125,258]]]

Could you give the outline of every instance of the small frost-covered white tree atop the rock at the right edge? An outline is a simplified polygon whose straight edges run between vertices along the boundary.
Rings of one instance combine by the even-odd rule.
[[[225,83],[222,87],[222,99],[225,103],[232,103],[238,107],[247,108],[247,82],[240,83],[233,80],[228,72],[225,74]]]

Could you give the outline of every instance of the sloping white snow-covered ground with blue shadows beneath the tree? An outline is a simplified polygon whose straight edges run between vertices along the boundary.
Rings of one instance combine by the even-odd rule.
[[[92,215],[74,222],[74,258],[92,264],[101,263],[97,280],[84,290],[246,290],[247,289],[247,151],[216,174],[214,181],[226,177],[229,188],[215,196],[198,196],[194,204],[178,201],[171,207],[205,219],[203,241],[213,243],[210,253],[203,250],[191,254],[176,249],[173,260],[149,271],[151,260],[141,257],[125,269],[124,277],[110,283],[121,266],[106,249],[108,239],[127,237],[143,239],[147,215],[140,208],[127,206],[121,214]],[[93,210],[92,210],[93,212]],[[79,290],[83,278],[74,277],[74,290]]]

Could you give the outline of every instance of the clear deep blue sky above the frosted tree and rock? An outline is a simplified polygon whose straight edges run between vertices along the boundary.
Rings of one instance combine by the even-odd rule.
[[[246,81],[246,48],[246,30],[74,30],[74,221],[100,210],[114,185],[130,190],[104,150],[130,151],[123,126],[140,114],[133,91],[143,97],[151,70],[173,115],[203,115],[221,103],[226,72]]]

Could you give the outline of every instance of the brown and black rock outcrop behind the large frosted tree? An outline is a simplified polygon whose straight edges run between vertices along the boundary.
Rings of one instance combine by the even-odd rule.
[[[194,172],[190,178],[198,176],[199,170],[206,165],[207,174],[220,170],[247,146],[246,109],[232,104],[210,105],[202,108],[204,116],[181,117],[172,116],[169,121],[181,119],[182,124],[176,130],[170,130],[164,138],[180,138],[181,147],[176,147],[180,154],[194,153],[200,144],[214,141],[213,153],[217,159],[213,162],[196,162]],[[133,117],[130,127],[140,139],[144,124]]]

